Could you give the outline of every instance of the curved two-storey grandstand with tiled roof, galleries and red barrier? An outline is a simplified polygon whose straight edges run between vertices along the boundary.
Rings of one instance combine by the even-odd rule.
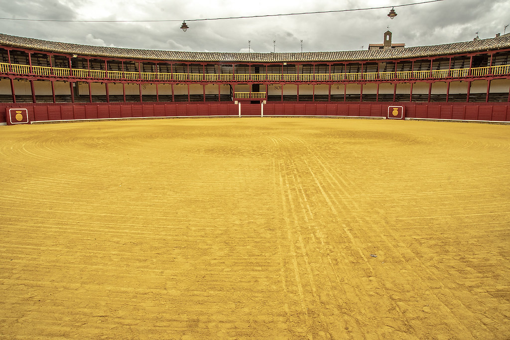
[[[35,122],[259,113],[387,117],[390,106],[404,108],[407,118],[510,121],[510,34],[398,49],[267,54],[0,34],[0,56],[4,124],[11,123],[10,109],[27,110]]]

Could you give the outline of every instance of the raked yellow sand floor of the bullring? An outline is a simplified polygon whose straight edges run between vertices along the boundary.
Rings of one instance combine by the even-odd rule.
[[[507,339],[509,169],[502,125],[0,126],[0,336]]]

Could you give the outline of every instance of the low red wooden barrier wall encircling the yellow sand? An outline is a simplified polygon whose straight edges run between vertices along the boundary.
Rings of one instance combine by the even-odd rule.
[[[508,103],[267,103],[264,116],[386,117],[389,106],[403,106],[407,118],[510,122]],[[237,116],[223,103],[0,103],[0,123],[11,124],[9,109],[26,109],[29,122],[141,117]],[[241,104],[242,115],[260,116],[260,104]]]

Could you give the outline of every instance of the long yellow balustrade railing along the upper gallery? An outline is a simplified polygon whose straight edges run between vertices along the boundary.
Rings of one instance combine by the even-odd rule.
[[[344,72],[344,73],[160,73],[87,70],[48,66],[30,66],[0,63],[0,73],[41,77],[72,79],[98,79],[120,81],[163,81],[163,82],[356,82],[391,81],[419,79],[462,79],[510,74],[510,65],[458,68],[445,70],[391,71],[391,72]]]

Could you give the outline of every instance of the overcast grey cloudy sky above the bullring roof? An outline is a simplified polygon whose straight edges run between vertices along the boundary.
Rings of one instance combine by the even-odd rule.
[[[0,19],[0,33],[88,45],[181,51],[253,52],[367,49],[393,42],[407,47],[503,34],[510,0],[444,0],[389,9],[285,17],[190,21],[199,18],[398,6],[420,0],[0,0],[0,17],[57,20],[179,20],[178,22],[38,22]],[[188,31],[180,30],[188,20]],[[510,26],[506,28],[510,33]]]

